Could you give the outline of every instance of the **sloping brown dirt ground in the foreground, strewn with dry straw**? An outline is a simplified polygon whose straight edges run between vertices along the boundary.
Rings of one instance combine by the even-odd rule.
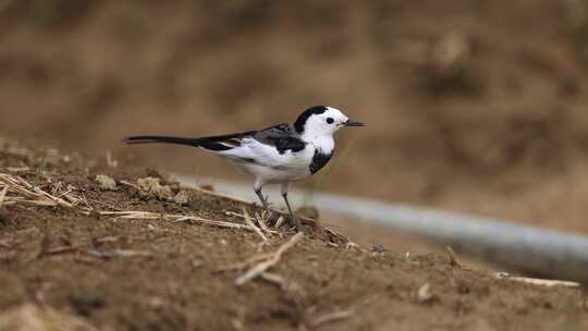
[[[578,289],[497,279],[449,254],[350,246],[308,223],[302,242],[268,270],[270,280],[237,286],[253,266],[247,260],[275,252],[294,233],[282,228],[262,244],[243,229],[166,220],[160,214],[244,224],[226,212],[256,209],[163,180],[171,195],[145,191],[142,179],[155,171],[111,166],[1,142],[2,189],[7,177],[20,177],[73,206],[8,191],[0,208],[0,330],[588,328]],[[180,192],[185,199],[173,198]],[[106,214],[128,210],[157,216]]]

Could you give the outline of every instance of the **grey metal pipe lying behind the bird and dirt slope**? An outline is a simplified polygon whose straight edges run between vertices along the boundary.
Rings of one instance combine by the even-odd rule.
[[[173,175],[185,185],[192,176]],[[222,193],[255,200],[250,185],[216,182]],[[265,194],[280,197],[278,189]],[[289,198],[301,206],[309,193],[291,189]],[[281,199],[275,205],[281,205]],[[313,201],[321,210],[345,218],[360,218],[395,231],[416,234],[436,243],[507,268],[542,278],[588,283],[588,237],[473,214],[438,211],[399,204],[315,193]]]

